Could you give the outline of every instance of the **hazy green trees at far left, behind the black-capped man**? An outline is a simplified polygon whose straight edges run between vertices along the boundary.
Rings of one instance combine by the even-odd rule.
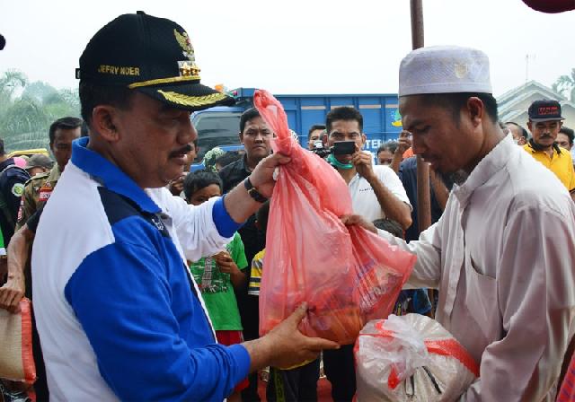
[[[29,83],[15,70],[0,75],[0,137],[7,152],[48,148],[50,124],[66,116],[80,117],[77,90]]]

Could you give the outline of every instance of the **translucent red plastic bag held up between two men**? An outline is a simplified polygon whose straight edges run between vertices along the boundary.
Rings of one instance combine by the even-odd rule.
[[[340,174],[289,134],[281,104],[256,91],[253,103],[277,138],[276,153],[291,157],[279,169],[270,203],[260,291],[260,334],[302,302],[300,330],[341,345],[355,341],[370,319],[383,319],[411,274],[415,256],[360,227],[346,227],[348,186]]]

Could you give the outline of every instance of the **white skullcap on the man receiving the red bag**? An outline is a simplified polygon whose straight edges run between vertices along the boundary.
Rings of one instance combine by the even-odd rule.
[[[423,93],[492,93],[489,58],[457,46],[418,48],[399,66],[399,96]]]

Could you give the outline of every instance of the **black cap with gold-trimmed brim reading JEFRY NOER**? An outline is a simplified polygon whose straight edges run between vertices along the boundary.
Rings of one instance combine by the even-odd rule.
[[[127,86],[179,109],[234,104],[199,83],[199,71],[190,37],[180,25],[138,11],[96,32],[75,74],[81,82]]]

